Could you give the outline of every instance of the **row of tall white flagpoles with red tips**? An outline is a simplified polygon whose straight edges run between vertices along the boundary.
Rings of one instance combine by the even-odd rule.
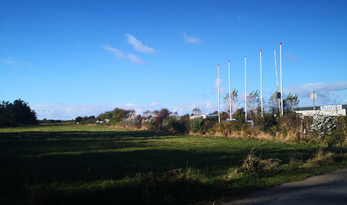
[[[277,93],[279,92],[278,86],[278,75],[277,75],[277,58],[276,51],[274,51],[274,64],[276,68],[276,80],[277,80]],[[229,69],[229,112],[230,121],[233,120],[233,115],[231,113],[231,82],[230,82],[230,61],[228,61]],[[279,43],[279,70],[280,70],[280,80],[281,80],[281,93],[279,101],[279,113],[283,115],[283,83],[282,83],[282,43]],[[261,90],[261,106],[262,106],[262,116],[263,116],[263,95],[262,95],[262,50],[260,50],[260,90]],[[219,64],[218,64],[218,122],[220,122],[220,78],[219,78]],[[247,56],[245,56],[245,122],[247,123]]]

